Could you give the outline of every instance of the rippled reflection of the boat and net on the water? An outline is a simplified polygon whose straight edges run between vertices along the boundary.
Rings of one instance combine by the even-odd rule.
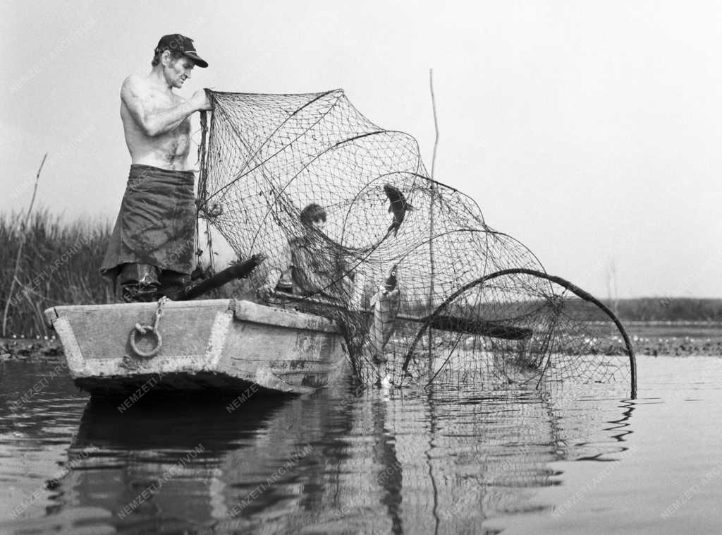
[[[122,413],[92,401],[52,512],[93,533],[482,533],[489,518],[545,507],[531,498],[554,484],[550,461],[623,449],[622,430],[572,450],[604,420],[590,428],[588,406],[575,420],[553,397],[342,384]]]

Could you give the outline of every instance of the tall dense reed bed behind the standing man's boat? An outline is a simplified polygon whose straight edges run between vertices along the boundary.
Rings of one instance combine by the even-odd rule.
[[[3,338],[51,334],[43,317],[48,307],[115,300],[113,288],[98,271],[112,230],[108,221],[66,221],[43,208],[35,210],[27,224],[24,219],[19,213],[0,215]]]

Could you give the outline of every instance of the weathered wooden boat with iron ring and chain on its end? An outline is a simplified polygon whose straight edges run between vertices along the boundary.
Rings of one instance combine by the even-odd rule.
[[[90,393],[242,392],[253,385],[310,393],[346,369],[334,322],[251,301],[63,306],[45,316],[72,379]]]

